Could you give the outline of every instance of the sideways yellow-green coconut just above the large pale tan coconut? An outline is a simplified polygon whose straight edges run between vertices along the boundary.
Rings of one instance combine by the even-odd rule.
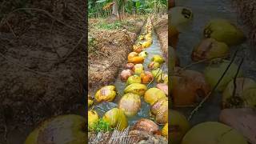
[[[138,94],[140,96],[143,96],[147,90],[146,85],[143,85],[141,83],[132,83],[129,86],[126,86],[126,89],[124,90],[124,93],[132,93],[132,94]]]

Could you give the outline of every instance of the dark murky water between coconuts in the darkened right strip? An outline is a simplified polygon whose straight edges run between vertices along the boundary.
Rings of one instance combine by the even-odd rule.
[[[186,66],[192,63],[190,54],[195,46],[202,39],[203,28],[211,18],[226,18],[233,22],[242,30],[246,32],[246,27],[242,27],[242,22],[238,18],[238,14],[234,9],[234,5],[231,0],[177,0],[176,6],[189,7],[194,13],[193,22],[190,22],[186,26],[179,26],[178,30],[181,31],[179,35],[179,42],[177,48],[177,54],[180,58],[181,66]],[[254,52],[247,42],[239,46],[230,47],[231,54],[234,54],[234,50],[242,48],[242,51],[238,54],[236,63],[238,64],[239,57],[246,55],[245,62],[242,65],[243,74],[245,77],[256,79],[256,65]],[[191,69],[203,71],[205,66],[203,64],[193,66]],[[221,94],[213,94],[208,102],[202,106],[202,109],[194,115],[191,119],[192,124],[206,121],[218,121],[218,115],[220,113]],[[179,109],[188,117],[192,109]]]

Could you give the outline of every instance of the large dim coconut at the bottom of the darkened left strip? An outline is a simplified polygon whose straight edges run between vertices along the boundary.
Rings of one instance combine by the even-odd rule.
[[[42,122],[26,138],[25,144],[82,144],[86,143],[86,119],[68,114]]]

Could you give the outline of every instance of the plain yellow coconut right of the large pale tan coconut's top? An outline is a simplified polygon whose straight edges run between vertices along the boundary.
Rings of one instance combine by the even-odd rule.
[[[145,102],[150,103],[151,106],[160,98],[166,98],[166,94],[162,90],[155,87],[146,90],[144,95]]]

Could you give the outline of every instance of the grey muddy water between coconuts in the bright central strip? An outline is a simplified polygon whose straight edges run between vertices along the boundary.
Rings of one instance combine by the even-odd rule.
[[[143,31],[144,31],[144,28],[142,29],[142,32]],[[145,50],[148,53],[148,57],[145,59],[143,63],[144,70],[148,70],[148,71],[150,70],[147,68],[147,66],[150,63],[150,59],[153,58],[155,54],[162,55],[163,57],[160,42],[158,41],[158,36],[157,34],[154,33],[154,30],[152,30],[152,39],[153,39],[152,45],[146,48]],[[162,70],[164,71],[165,74],[167,74],[168,69],[167,69],[166,63],[162,65]],[[124,94],[123,90],[126,87],[126,82],[122,82],[118,76],[116,81],[114,82],[114,86],[116,86],[118,90],[118,96],[115,98],[114,102],[105,102],[105,103],[98,104],[98,106],[103,110],[97,107],[94,108],[94,110],[97,110],[98,114],[100,114],[101,116],[105,114],[105,111],[118,106],[118,102],[120,98],[122,98],[122,95]],[[156,82],[150,83],[148,88],[151,88],[154,86],[156,86]],[[142,100],[141,110],[138,112],[137,115],[128,118],[129,126],[133,126],[133,124],[137,122],[140,118],[150,118],[150,105],[147,104],[143,98],[141,98],[141,100]]]

